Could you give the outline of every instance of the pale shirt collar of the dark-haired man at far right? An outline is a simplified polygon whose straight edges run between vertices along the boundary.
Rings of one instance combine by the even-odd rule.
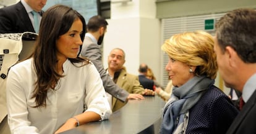
[[[246,103],[250,96],[252,96],[252,93],[256,90],[256,73],[252,75],[247,82],[244,85],[244,89],[242,90],[242,99]]]

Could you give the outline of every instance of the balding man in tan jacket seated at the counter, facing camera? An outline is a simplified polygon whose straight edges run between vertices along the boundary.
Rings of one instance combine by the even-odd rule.
[[[123,66],[126,62],[126,54],[122,49],[113,49],[108,56],[108,69],[106,69],[109,76],[113,81],[124,90],[129,93],[140,93],[141,95],[155,95],[152,90],[144,89],[140,85],[138,76],[129,74],[126,72],[126,68]],[[116,98],[111,97],[110,102],[113,112],[122,108],[126,103],[123,103]]]

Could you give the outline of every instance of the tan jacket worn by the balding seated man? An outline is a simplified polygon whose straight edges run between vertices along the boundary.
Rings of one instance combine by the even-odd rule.
[[[116,84],[122,87],[122,89],[125,89],[129,93],[139,93],[142,94],[144,92],[144,89],[142,85],[140,85],[138,76],[135,76],[133,74],[129,74],[126,72],[125,68],[122,68],[121,71],[114,73],[114,81],[116,81]],[[116,100],[116,98],[113,98],[112,100],[112,110],[113,112],[117,109],[122,108],[126,103],[123,103],[119,100]]]

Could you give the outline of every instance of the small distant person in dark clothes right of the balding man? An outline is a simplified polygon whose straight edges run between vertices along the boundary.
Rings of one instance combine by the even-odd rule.
[[[140,84],[144,87],[144,89],[150,89],[154,90],[155,89],[155,84],[154,81],[151,79],[148,79],[147,76],[147,71],[148,71],[148,65],[142,63],[139,66],[139,81]]]

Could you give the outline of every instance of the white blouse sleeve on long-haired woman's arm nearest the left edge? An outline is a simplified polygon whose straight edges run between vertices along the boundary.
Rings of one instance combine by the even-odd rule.
[[[22,81],[22,77],[18,71],[11,68],[6,82],[9,127],[12,133],[38,133],[38,128],[30,126],[27,98],[20,81]]]

